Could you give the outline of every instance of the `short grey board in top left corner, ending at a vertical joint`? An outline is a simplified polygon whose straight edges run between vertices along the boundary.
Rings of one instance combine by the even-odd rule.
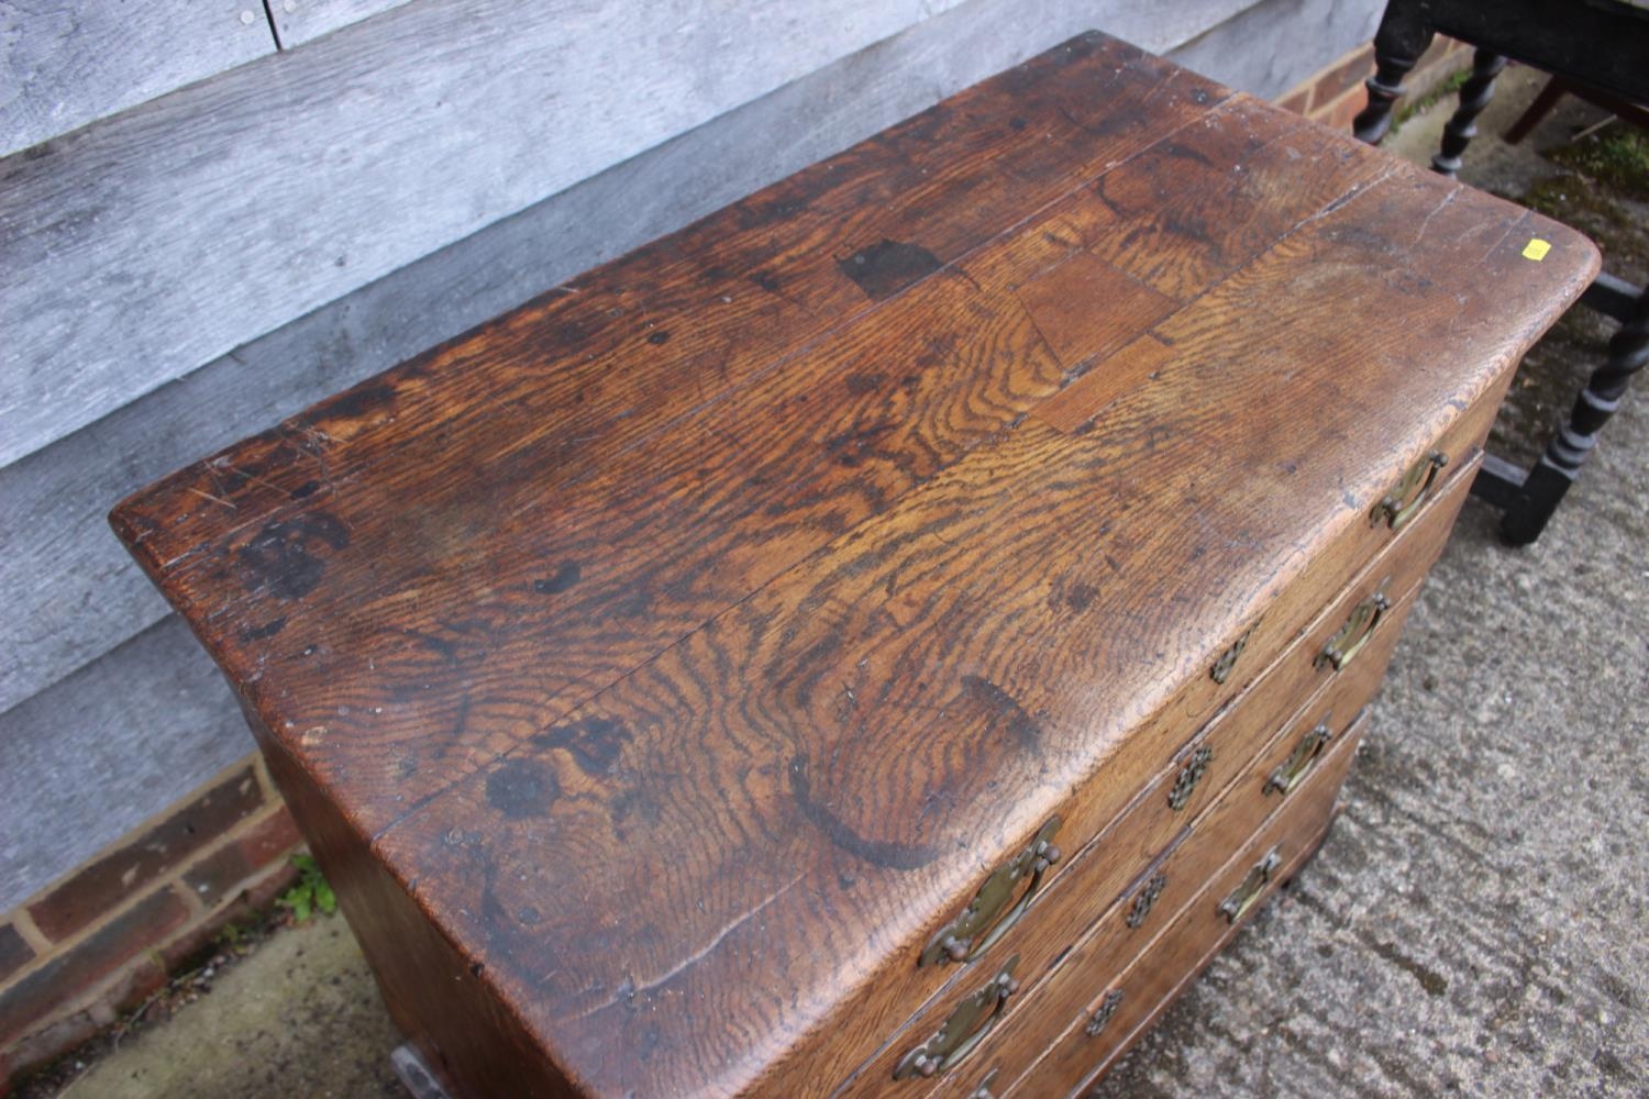
[[[274,51],[262,0],[0,0],[0,157]]]

